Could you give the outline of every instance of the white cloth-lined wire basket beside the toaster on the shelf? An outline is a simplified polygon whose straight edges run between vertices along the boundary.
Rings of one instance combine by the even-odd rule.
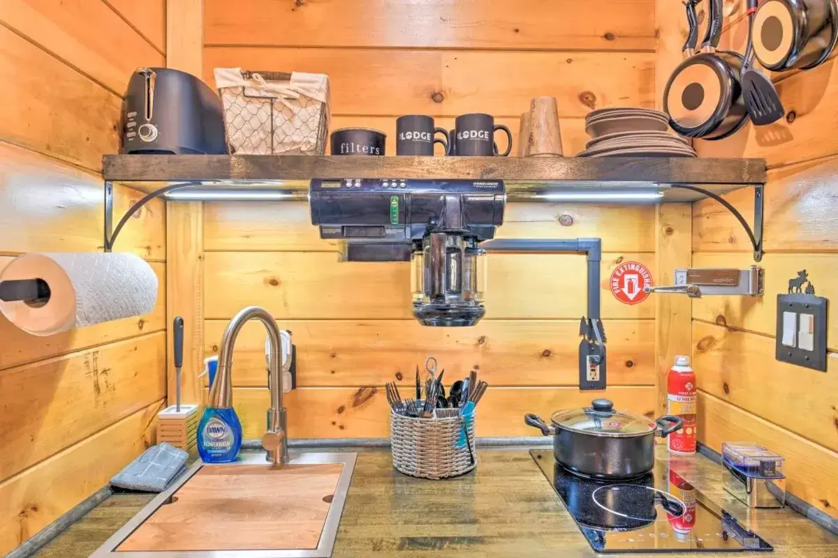
[[[329,88],[325,74],[216,68],[215,85],[230,153],[326,153]]]

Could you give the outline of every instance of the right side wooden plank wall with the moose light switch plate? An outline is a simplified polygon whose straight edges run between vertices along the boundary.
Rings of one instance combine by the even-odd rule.
[[[725,44],[739,48],[747,27],[727,23]],[[830,311],[829,371],[774,360],[777,294],[801,269],[817,293],[838,300],[838,144],[835,59],[806,72],[774,74],[785,118],[748,125],[725,141],[700,141],[702,156],[768,160],[765,190],[766,273],[763,299],[706,298],[693,303],[693,357],[698,374],[699,438],[716,450],[726,440],[756,440],[786,458],[789,490],[838,517],[838,317]],[[753,217],[753,191],[727,196]],[[747,236],[714,202],[693,208],[693,264],[752,263]]]

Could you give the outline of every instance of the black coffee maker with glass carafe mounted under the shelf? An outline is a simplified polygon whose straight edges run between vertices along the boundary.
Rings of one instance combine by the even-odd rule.
[[[483,318],[479,243],[504,222],[503,182],[315,180],[309,202],[320,237],[344,241],[344,261],[411,262],[413,315],[422,325]]]

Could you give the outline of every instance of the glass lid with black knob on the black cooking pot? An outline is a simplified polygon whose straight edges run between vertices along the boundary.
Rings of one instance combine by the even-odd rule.
[[[608,399],[594,399],[591,407],[556,411],[551,422],[559,428],[594,436],[643,436],[654,433],[658,427],[642,415],[614,411],[614,404]]]

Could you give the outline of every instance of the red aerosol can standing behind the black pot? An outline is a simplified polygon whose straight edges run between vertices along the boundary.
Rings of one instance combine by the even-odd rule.
[[[676,356],[666,378],[667,412],[684,420],[680,430],[666,438],[670,453],[696,453],[696,372],[689,356]]]

